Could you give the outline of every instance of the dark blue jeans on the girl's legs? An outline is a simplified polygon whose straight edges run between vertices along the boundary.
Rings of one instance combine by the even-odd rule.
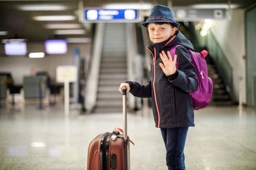
[[[166,148],[168,170],[185,170],[184,147],[189,127],[160,128]]]

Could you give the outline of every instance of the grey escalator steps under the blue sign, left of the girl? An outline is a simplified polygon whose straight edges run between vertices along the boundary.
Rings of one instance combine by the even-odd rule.
[[[93,112],[122,112],[120,83],[127,81],[125,23],[105,24],[97,101]]]

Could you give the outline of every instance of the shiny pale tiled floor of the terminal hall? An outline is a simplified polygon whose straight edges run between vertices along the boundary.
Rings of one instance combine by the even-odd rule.
[[[79,115],[63,107],[0,109],[0,170],[86,170],[87,149],[99,133],[122,128],[122,114]],[[187,170],[256,170],[256,110],[195,111],[185,147]],[[128,114],[131,170],[167,170],[160,130],[150,112]]]

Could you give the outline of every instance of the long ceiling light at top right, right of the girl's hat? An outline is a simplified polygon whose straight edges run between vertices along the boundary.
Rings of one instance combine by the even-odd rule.
[[[219,3],[219,4],[195,4],[191,5],[192,8],[197,8],[197,9],[228,9],[228,4],[226,3]],[[238,4],[230,4],[231,9],[235,9],[239,7]]]

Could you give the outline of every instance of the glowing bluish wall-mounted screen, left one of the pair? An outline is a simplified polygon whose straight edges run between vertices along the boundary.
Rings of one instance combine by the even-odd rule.
[[[5,55],[27,55],[26,42],[5,43]]]

